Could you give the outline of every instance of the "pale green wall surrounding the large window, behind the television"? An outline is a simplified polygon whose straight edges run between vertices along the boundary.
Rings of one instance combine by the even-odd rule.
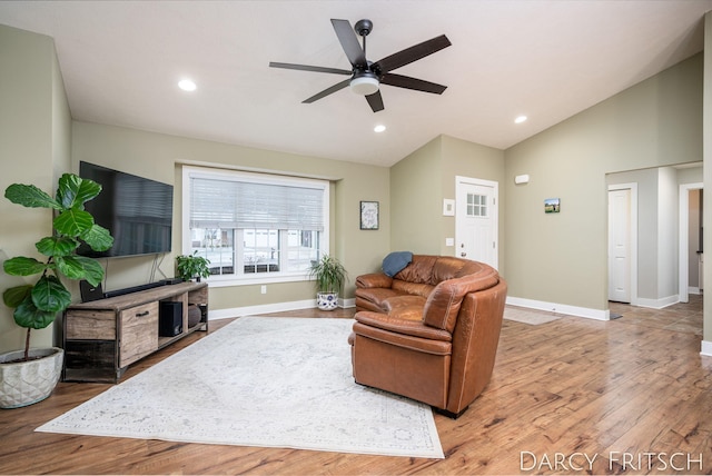
[[[166,256],[160,270],[174,276],[175,256],[181,246],[181,167],[204,165],[251,171],[268,171],[332,180],[330,252],[337,256],[350,276],[345,297],[353,297],[356,276],[378,269],[388,251],[389,170],[315,157],[297,156],[185,137],[146,132],[89,122],[73,123],[72,157],[77,170],[85,160],[129,173],[149,177],[175,186],[172,255]],[[380,227],[375,231],[359,229],[359,201],[380,202]],[[120,258],[108,261],[107,289],[161,279],[151,276],[152,258]],[[210,308],[269,305],[310,299],[312,282],[210,288]]]

